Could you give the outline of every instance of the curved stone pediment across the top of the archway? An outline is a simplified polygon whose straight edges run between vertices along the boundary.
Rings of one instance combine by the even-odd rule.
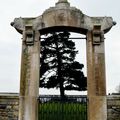
[[[66,0],[60,0],[55,7],[45,10],[42,15],[36,18],[15,18],[11,23],[18,32],[22,33],[25,26],[32,26],[34,30],[48,29],[51,27],[69,27],[78,29],[81,34],[93,30],[94,26],[101,26],[104,33],[108,32],[116,23],[112,17],[89,17],[81,10],[71,7]],[[56,29],[55,29],[56,30]],[[71,31],[70,30],[70,31]],[[77,30],[76,30],[77,31]]]

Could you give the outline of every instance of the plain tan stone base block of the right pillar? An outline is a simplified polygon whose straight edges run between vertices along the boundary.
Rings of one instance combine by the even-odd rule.
[[[91,96],[88,98],[88,120],[107,120],[106,96]]]

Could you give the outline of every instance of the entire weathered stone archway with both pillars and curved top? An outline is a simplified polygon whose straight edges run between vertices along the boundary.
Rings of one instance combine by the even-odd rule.
[[[15,18],[11,25],[23,35],[19,120],[37,120],[40,35],[68,29],[86,35],[88,120],[107,120],[104,34],[115,22],[111,17],[89,17],[59,0],[36,18]]]

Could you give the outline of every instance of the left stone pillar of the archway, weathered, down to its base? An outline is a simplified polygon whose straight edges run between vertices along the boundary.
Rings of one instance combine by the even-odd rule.
[[[19,120],[38,120],[39,32],[25,26],[22,41]]]

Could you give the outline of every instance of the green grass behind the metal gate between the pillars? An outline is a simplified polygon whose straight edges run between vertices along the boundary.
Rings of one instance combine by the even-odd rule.
[[[39,120],[86,120],[87,108],[81,103],[39,104]]]

